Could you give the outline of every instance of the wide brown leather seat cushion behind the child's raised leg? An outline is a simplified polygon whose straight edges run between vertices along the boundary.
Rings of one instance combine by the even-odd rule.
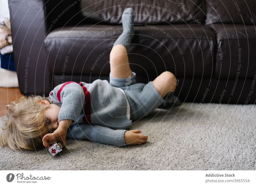
[[[108,75],[109,53],[122,31],[122,26],[111,25],[53,30],[44,40],[50,72]],[[182,77],[212,76],[216,42],[210,27],[145,25],[134,27],[134,31],[128,56],[136,73],[157,76],[168,70]]]

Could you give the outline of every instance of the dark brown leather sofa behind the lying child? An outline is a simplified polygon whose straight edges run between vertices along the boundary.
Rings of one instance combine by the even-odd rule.
[[[255,0],[9,0],[20,92],[47,96],[65,81],[108,80],[127,7],[137,82],[171,71],[181,101],[255,103]]]

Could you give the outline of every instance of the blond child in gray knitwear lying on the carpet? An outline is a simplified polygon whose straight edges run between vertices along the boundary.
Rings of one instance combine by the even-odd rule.
[[[141,130],[126,130],[132,120],[147,116],[156,108],[179,105],[173,96],[176,78],[163,72],[148,84],[136,83],[127,51],[133,38],[133,11],[122,15],[123,33],[110,52],[107,80],[92,83],[68,81],[56,86],[49,97],[21,97],[5,107],[7,120],[0,134],[0,146],[13,150],[36,150],[66,138],[86,139],[114,146],[142,144],[148,136]]]

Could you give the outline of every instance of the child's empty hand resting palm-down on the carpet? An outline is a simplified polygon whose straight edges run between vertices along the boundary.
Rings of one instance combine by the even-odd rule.
[[[129,130],[124,133],[124,142],[127,145],[142,144],[147,142],[148,136],[141,133],[141,130]]]

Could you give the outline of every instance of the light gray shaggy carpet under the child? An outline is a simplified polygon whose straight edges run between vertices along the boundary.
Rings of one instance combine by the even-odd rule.
[[[46,149],[0,148],[0,169],[256,170],[254,111],[255,105],[208,103],[156,109],[130,128],[147,134],[147,143],[114,147],[67,139],[67,148],[54,157]]]

